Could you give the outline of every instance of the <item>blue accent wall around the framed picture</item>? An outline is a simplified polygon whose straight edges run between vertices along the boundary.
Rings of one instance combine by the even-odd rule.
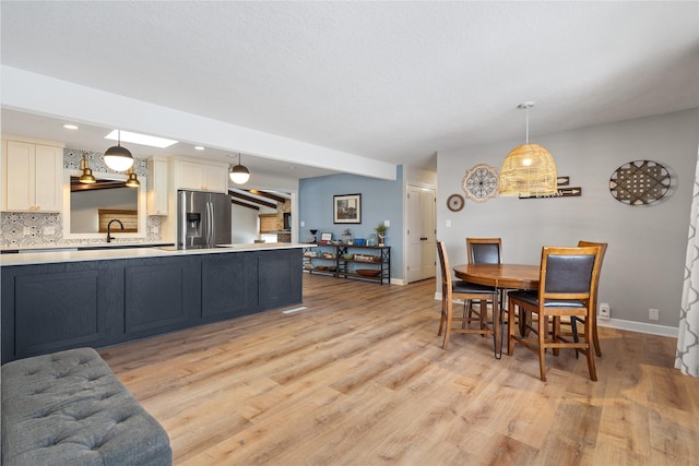
[[[362,194],[362,223],[333,224],[333,195]],[[310,229],[332,232],[342,239],[350,228],[353,238],[369,238],[383,220],[390,220],[386,230],[386,244],[391,247],[391,277],[403,276],[403,166],[396,167],[395,181],[379,180],[357,175],[330,175],[306,178],[298,183],[298,219],[305,226],[298,229],[300,241],[310,237]],[[299,223],[300,225],[300,223]]]

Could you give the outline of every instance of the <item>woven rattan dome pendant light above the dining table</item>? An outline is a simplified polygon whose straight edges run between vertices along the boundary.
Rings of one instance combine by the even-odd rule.
[[[505,157],[500,169],[499,195],[535,198],[558,193],[556,162],[550,152],[529,142],[529,109],[533,101],[520,104],[526,110],[526,142]]]

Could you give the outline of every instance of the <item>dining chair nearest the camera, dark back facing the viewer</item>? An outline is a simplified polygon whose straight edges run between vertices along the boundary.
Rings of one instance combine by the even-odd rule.
[[[538,291],[508,292],[508,355],[514,353],[519,343],[538,355],[542,381],[546,381],[546,348],[558,355],[560,348],[576,349],[588,358],[590,379],[597,380],[590,336],[592,335],[592,299],[594,284],[600,274],[600,247],[556,248],[544,247],[540,266]],[[536,326],[526,324],[534,337],[518,335],[514,332],[516,310],[524,310],[537,315]],[[584,319],[582,342],[569,340],[559,334],[560,318],[579,316]],[[548,332],[548,318],[553,326]]]

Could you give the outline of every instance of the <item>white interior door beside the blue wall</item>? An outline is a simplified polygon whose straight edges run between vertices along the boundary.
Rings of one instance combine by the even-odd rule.
[[[407,282],[436,275],[435,190],[407,188]]]

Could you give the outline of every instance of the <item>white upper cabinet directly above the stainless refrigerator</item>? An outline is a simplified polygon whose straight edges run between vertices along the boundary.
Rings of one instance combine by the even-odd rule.
[[[228,165],[210,160],[174,158],[170,169],[174,189],[228,192]]]

